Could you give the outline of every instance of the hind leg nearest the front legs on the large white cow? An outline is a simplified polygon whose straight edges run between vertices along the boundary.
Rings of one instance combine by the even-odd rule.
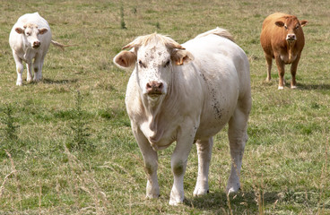
[[[196,142],[198,154],[198,176],[195,185],[194,195],[203,195],[209,192],[208,176],[212,155],[213,138],[198,140]]]

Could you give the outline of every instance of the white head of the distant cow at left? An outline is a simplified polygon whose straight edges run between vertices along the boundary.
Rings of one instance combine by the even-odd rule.
[[[39,35],[42,35],[48,32],[48,29],[42,28],[38,29],[36,24],[26,24],[23,28],[17,27],[15,31],[23,35],[25,41],[29,44],[30,47],[39,48],[41,45]]]

